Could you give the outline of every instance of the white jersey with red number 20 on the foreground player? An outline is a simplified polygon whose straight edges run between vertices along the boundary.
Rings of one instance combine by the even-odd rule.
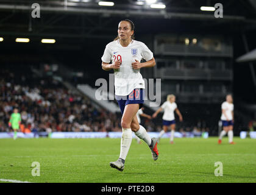
[[[121,61],[120,68],[114,69],[115,94],[127,96],[135,88],[145,88],[140,69],[133,69],[132,63],[135,62],[135,59],[141,62],[142,59],[149,61],[152,58],[153,53],[146,44],[140,41],[132,40],[127,47],[121,46],[119,40],[108,43],[101,57],[102,62]]]

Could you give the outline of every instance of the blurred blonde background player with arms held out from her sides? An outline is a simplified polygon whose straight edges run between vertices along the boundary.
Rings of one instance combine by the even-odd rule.
[[[165,112],[163,113],[163,130],[159,134],[158,141],[160,140],[162,135],[165,132],[167,132],[168,127],[170,126],[171,127],[170,143],[173,144],[174,132],[176,128],[174,111],[176,111],[177,115],[179,115],[180,121],[183,121],[182,115],[179,109],[177,108],[177,104],[175,101],[176,101],[176,97],[174,96],[174,94],[169,94],[167,96],[166,102],[163,103],[163,105],[160,108],[158,108],[158,110],[154,113],[154,115],[152,115],[152,118],[155,118],[157,117],[159,112],[161,112],[163,109],[165,110]]]

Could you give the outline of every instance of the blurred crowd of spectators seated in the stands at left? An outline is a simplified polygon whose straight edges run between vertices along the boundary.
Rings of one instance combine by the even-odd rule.
[[[21,130],[26,132],[121,131],[121,116],[96,108],[90,99],[71,93],[57,80],[28,83],[25,76],[15,77],[9,70],[1,71],[0,131],[10,130],[14,108],[18,108]]]

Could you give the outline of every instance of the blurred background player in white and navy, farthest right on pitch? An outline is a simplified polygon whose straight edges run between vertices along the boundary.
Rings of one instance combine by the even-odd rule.
[[[226,102],[223,102],[221,104],[221,110],[222,110],[221,121],[222,121],[223,130],[219,135],[218,143],[221,144],[222,137],[227,133],[229,137],[229,143],[235,144],[233,142],[234,105],[233,105],[232,95],[228,94],[226,96]]]

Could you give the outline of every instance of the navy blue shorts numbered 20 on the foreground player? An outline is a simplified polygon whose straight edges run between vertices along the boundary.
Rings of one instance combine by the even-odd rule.
[[[139,104],[139,109],[143,106],[144,103],[144,89],[136,88],[132,90],[127,96],[115,96],[116,101],[118,102],[119,108],[123,115],[124,107],[127,104]]]

